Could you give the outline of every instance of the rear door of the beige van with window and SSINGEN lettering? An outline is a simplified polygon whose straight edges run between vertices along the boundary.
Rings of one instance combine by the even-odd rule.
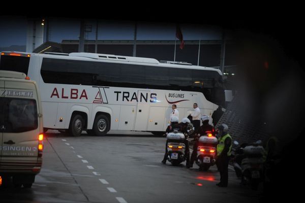
[[[30,170],[38,161],[38,101],[34,83],[5,81],[2,169]]]

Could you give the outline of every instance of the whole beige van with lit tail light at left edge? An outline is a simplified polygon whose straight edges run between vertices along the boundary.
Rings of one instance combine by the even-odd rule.
[[[0,179],[32,187],[42,165],[42,132],[36,82],[24,73],[0,71]]]

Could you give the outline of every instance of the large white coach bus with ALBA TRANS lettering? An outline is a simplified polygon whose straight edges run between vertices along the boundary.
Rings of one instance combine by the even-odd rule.
[[[163,133],[172,104],[179,120],[197,103],[211,115],[224,106],[222,73],[185,62],[95,53],[1,53],[0,70],[38,83],[44,130],[103,136],[109,130]]]

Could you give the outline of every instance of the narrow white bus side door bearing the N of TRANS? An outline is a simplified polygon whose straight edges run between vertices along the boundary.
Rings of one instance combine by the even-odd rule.
[[[147,128],[147,120],[149,114],[149,99],[150,91],[138,90],[138,103],[137,103],[137,113],[136,122],[134,130],[143,130]]]

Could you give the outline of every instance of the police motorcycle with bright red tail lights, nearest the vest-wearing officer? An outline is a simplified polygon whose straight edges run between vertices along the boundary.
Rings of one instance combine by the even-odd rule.
[[[210,166],[216,162],[216,147],[218,140],[212,136],[210,131],[206,131],[203,136],[197,134],[199,137],[197,147],[196,164],[199,166],[199,171],[207,171]]]

